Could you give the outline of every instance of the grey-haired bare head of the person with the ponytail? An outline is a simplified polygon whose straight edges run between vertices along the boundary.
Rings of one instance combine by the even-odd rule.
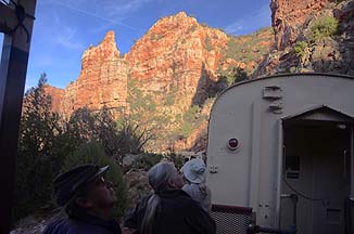
[[[173,162],[161,161],[149,170],[149,183],[155,193],[159,193],[180,190],[184,186],[184,179]]]

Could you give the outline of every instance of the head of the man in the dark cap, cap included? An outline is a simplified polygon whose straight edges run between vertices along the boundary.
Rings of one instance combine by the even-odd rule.
[[[109,166],[84,165],[54,179],[56,202],[69,217],[90,213],[109,218],[116,196],[112,183],[103,178],[108,169]]]

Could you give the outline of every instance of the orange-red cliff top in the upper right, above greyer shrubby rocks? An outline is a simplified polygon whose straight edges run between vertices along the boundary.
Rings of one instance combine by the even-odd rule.
[[[271,0],[271,26],[279,50],[296,41],[306,27],[306,21],[336,0]]]

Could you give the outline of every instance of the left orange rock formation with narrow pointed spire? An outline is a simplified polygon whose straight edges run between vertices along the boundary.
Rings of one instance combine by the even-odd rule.
[[[89,109],[124,108],[127,100],[128,67],[115,44],[115,35],[109,31],[103,41],[90,46],[81,57],[81,72],[75,82],[71,82],[61,95],[51,88],[53,106],[59,113],[68,116],[75,109],[87,106]]]

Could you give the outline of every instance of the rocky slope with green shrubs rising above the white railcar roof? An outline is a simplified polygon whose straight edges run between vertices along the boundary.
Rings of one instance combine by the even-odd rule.
[[[261,63],[254,78],[289,72],[354,75],[352,0],[273,0],[270,6],[277,50]],[[334,23],[336,34],[326,35]]]

